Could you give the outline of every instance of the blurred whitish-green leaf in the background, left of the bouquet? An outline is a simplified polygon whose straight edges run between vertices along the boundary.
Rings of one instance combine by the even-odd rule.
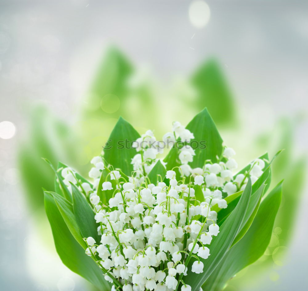
[[[34,213],[44,207],[42,188],[54,190],[54,173],[42,158],[54,166],[60,158],[74,164],[75,147],[68,127],[42,106],[30,112],[29,126],[30,132],[18,147],[17,163],[24,193]]]

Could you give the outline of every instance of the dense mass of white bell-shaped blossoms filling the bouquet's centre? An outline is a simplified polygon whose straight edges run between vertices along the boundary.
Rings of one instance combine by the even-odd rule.
[[[89,176],[94,178],[93,188],[78,181],[71,169],[61,172],[67,186],[75,183],[89,198],[101,240],[85,238],[86,254],[99,264],[115,289],[166,291],[180,287],[181,291],[191,291],[185,284],[188,263],[194,259],[191,271],[202,273],[201,259],[210,256],[212,238],[219,235],[213,206],[226,208],[224,198],[242,190],[249,174],[255,181],[265,166],[263,160],[257,159],[249,171],[234,177],[235,152],[225,148],[217,162],[205,161],[202,168],[192,169],[188,163],[195,155],[189,146],[193,134],[175,122],[173,133],[165,134],[164,139],[177,138],[187,143],[177,150],[181,164],[166,171],[164,177],[159,176],[156,184],[147,177],[160,154],[152,131],[138,141],[144,141],[146,146],[136,148],[132,177],[107,165],[101,156],[91,161],[94,167]],[[103,170],[108,174],[100,184]],[[100,187],[103,193],[112,193],[105,204],[97,195]],[[197,190],[203,194],[201,199],[196,198]]]

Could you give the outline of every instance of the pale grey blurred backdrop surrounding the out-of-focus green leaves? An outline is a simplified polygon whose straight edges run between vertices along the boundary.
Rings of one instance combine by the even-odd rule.
[[[1,290],[85,289],[42,247],[14,155],[26,127],[27,104],[42,100],[71,122],[107,44],[115,43],[137,64],[151,64],[166,84],[217,56],[241,114],[256,130],[280,116],[306,113],[308,2],[206,2],[210,21],[197,29],[188,17],[191,1],[0,0],[0,122],[17,128],[12,139],[0,138]],[[296,150],[305,151],[306,143],[304,123]],[[275,271],[278,280],[272,281],[268,271],[260,285],[247,290],[306,290],[307,202],[305,195],[285,265]]]

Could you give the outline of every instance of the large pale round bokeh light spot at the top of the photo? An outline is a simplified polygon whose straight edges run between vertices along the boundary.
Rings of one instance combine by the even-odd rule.
[[[189,5],[188,14],[189,20],[194,27],[203,28],[210,20],[211,10],[206,2],[196,0]]]

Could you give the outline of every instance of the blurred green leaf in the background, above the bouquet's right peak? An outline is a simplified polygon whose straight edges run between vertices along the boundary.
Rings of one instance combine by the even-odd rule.
[[[207,107],[218,125],[234,124],[236,112],[225,76],[215,59],[202,64],[191,77],[197,92],[196,108]]]

